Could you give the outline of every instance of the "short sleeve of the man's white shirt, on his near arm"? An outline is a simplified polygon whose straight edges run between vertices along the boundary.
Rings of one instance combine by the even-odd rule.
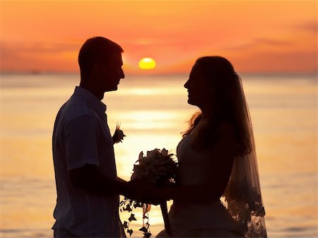
[[[83,114],[66,123],[65,151],[69,171],[86,164],[99,165],[98,124],[93,117]]]

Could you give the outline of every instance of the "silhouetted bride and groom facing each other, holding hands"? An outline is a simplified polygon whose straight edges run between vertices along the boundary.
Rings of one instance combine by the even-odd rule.
[[[54,237],[126,237],[119,194],[148,203],[173,200],[171,234],[163,230],[158,237],[266,237],[247,103],[240,77],[223,57],[199,58],[184,85],[189,104],[200,111],[177,146],[177,186],[117,177],[118,135],[110,134],[101,100],[124,78],[122,52],[104,37],[90,38],[79,52],[81,83],[53,131]]]

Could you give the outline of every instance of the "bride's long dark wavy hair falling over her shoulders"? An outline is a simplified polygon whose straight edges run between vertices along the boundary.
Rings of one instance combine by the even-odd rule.
[[[234,127],[237,141],[237,155],[250,152],[248,125],[245,123],[244,107],[240,79],[232,64],[220,56],[205,56],[196,60],[196,66],[201,70],[211,93],[211,111],[213,117],[210,124],[205,125],[194,134],[194,148],[206,148],[218,140],[218,126],[227,121]],[[183,136],[191,133],[201,119],[201,112],[193,115],[189,121],[189,129]]]

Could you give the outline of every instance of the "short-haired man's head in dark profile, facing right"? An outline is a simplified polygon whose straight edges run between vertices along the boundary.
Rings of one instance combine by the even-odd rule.
[[[117,90],[122,71],[122,47],[105,37],[93,37],[83,44],[78,54],[81,85],[96,93]]]

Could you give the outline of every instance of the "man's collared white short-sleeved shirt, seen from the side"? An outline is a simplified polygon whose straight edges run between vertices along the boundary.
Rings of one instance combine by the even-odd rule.
[[[98,196],[76,189],[69,170],[98,165],[117,179],[114,148],[107,126],[106,105],[88,90],[76,87],[57,114],[53,131],[53,160],[57,184],[56,220],[52,229],[78,237],[119,237],[119,196]]]

